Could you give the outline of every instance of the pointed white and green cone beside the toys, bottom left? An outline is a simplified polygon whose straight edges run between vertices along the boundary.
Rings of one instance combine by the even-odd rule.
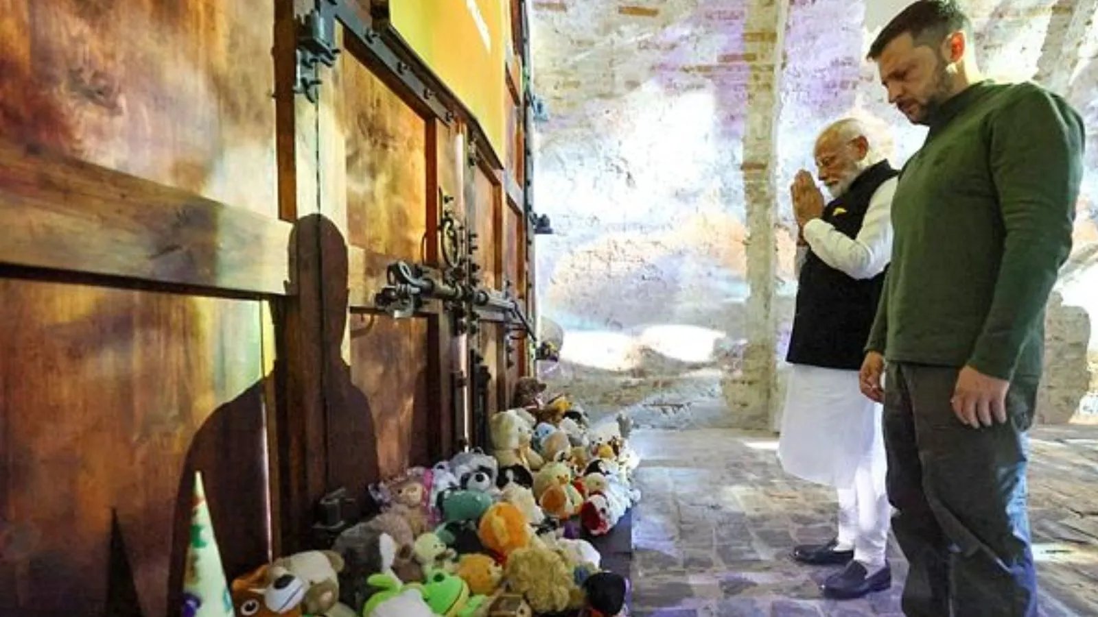
[[[233,617],[233,597],[228,594],[202,486],[202,472],[199,471],[194,472],[194,505],[187,543],[182,608],[182,617]]]

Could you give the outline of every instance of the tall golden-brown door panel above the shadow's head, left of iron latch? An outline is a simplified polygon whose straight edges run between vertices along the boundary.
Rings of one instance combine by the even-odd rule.
[[[423,259],[427,125],[349,54],[339,64],[350,244]]]

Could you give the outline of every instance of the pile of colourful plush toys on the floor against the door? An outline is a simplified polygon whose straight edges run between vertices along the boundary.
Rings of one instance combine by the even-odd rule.
[[[276,560],[232,584],[239,617],[616,617],[629,583],[589,541],[639,498],[623,418],[592,426],[524,378],[490,419],[490,453],[460,452],[369,487],[380,514],[330,550]],[[587,538],[587,539],[585,539]],[[186,613],[186,610],[184,610]]]

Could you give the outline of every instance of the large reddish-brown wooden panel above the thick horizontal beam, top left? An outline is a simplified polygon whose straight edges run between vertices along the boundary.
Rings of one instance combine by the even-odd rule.
[[[274,2],[0,1],[0,135],[274,215]]]

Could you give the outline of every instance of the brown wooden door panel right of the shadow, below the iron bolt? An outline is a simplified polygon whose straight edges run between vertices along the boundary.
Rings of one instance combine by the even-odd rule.
[[[329,419],[332,481],[365,489],[428,463],[427,319],[351,315],[348,401]]]

